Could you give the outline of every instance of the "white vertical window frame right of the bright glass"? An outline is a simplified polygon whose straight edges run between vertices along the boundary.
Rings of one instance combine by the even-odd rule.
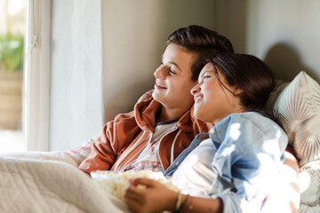
[[[28,0],[23,119],[27,151],[49,151],[51,0]]]

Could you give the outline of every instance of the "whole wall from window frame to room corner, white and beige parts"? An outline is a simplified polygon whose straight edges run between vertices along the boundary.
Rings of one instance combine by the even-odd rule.
[[[164,42],[214,28],[212,0],[54,0],[50,148],[81,145],[153,88]],[[105,109],[105,113],[103,112]]]

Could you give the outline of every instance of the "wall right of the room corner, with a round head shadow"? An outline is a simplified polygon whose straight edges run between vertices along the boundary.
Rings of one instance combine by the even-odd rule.
[[[217,0],[216,9],[216,29],[236,51],[264,59],[278,78],[305,70],[320,82],[320,1]]]

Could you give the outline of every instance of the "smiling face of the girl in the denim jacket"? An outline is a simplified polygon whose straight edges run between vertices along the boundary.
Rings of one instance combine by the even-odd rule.
[[[208,63],[201,70],[198,83],[191,90],[195,99],[194,115],[204,122],[216,124],[228,114],[243,112],[244,107],[240,104],[240,99],[236,96],[241,90],[229,86],[225,76],[218,69],[220,83],[215,75],[212,63]],[[230,91],[234,92],[232,94]]]

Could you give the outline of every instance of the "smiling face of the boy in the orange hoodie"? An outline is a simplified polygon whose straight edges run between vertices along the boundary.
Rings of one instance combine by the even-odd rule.
[[[187,111],[194,103],[190,90],[196,85],[191,80],[193,53],[184,51],[178,44],[170,43],[164,51],[162,63],[154,73],[156,77],[153,98],[164,107],[180,107]]]

